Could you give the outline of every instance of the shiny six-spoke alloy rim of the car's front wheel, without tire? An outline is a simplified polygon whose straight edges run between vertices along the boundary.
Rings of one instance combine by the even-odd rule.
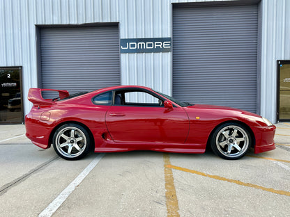
[[[250,138],[247,131],[238,125],[228,125],[217,132],[215,145],[220,154],[227,158],[239,158],[247,152]]]

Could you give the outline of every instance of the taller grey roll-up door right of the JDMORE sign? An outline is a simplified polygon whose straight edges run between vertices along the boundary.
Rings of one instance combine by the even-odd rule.
[[[174,6],[173,96],[257,112],[257,5]]]

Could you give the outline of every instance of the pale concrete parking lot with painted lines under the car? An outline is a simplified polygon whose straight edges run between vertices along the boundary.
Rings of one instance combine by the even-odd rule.
[[[290,123],[276,149],[205,154],[91,153],[66,161],[0,125],[0,216],[290,216]]]

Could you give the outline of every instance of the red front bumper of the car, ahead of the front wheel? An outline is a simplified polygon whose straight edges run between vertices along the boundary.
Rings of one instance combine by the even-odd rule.
[[[276,127],[274,125],[270,127],[254,127],[253,131],[256,139],[255,154],[275,150],[274,136]]]

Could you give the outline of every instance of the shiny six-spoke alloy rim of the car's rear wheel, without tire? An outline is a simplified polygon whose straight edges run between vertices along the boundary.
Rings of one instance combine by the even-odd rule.
[[[77,127],[65,127],[56,134],[55,147],[58,152],[67,157],[75,158],[86,150],[86,135]]]

